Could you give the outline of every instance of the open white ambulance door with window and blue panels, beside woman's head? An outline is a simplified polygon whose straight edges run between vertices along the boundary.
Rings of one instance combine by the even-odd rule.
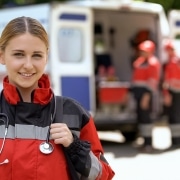
[[[78,100],[87,110],[95,106],[92,12],[57,5],[50,26],[50,72],[56,94]]]

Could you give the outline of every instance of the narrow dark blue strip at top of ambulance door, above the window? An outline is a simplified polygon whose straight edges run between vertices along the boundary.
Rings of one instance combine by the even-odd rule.
[[[59,19],[63,20],[77,20],[77,21],[86,21],[86,15],[84,14],[71,14],[71,13],[62,13],[59,16]]]

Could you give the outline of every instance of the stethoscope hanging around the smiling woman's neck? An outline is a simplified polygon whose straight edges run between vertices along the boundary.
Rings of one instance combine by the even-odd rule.
[[[51,114],[51,121],[50,121],[50,125],[53,123],[54,119],[55,119],[55,114],[56,114],[56,98],[54,98],[54,95],[53,95],[53,99],[54,99],[54,112],[53,114]],[[0,121],[2,121],[5,125],[5,131],[4,131],[4,136],[3,136],[3,141],[2,141],[2,145],[1,145],[1,148],[0,148],[0,155],[2,154],[2,151],[4,149],[4,144],[5,144],[5,141],[6,141],[6,136],[7,136],[7,132],[8,132],[8,126],[9,126],[9,118],[8,116],[5,114],[5,113],[0,113]],[[39,145],[39,150],[41,153],[43,154],[50,154],[53,152],[54,150],[54,147],[53,145],[50,143],[49,139],[50,139],[50,125],[49,125],[49,128],[48,128],[48,132],[47,132],[47,137],[46,137],[46,141],[42,142],[40,145]],[[7,160],[7,159],[6,159]],[[6,161],[5,160],[5,161]],[[2,162],[0,163],[3,164],[3,163],[8,163],[8,162]]]

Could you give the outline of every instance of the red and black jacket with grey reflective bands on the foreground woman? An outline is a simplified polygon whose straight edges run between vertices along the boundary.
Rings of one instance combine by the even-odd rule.
[[[51,114],[52,90],[47,76],[42,76],[39,87],[32,93],[32,103],[22,102],[16,88],[4,80],[4,91],[1,97],[0,112],[9,117],[8,134],[0,163],[8,159],[8,163],[0,164],[2,180],[70,180],[63,149],[54,146],[53,153],[42,154],[39,145],[47,137],[47,129]],[[57,107],[58,108],[58,107]],[[103,156],[103,148],[99,141],[92,117],[75,101],[63,99],[64,114],[62,121],[83,141],[91,144],[90,160],[92,166],[89,179],[110,180],[114,172]],[[77,118],[78,117],[78,118]],[[0,147],[3,143],[4,125],[0,122]],[[102,155],[101,155],[102,154]],[[95,164],[94,164],[95,163]]]

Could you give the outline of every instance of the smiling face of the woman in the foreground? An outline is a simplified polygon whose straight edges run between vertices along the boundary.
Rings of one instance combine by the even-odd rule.
[[[19,90],[32,91],[38,87],[47,58],[44,42],[29,33],[12,38],[0,53],[0,63],[6,66],[9,82]]]

